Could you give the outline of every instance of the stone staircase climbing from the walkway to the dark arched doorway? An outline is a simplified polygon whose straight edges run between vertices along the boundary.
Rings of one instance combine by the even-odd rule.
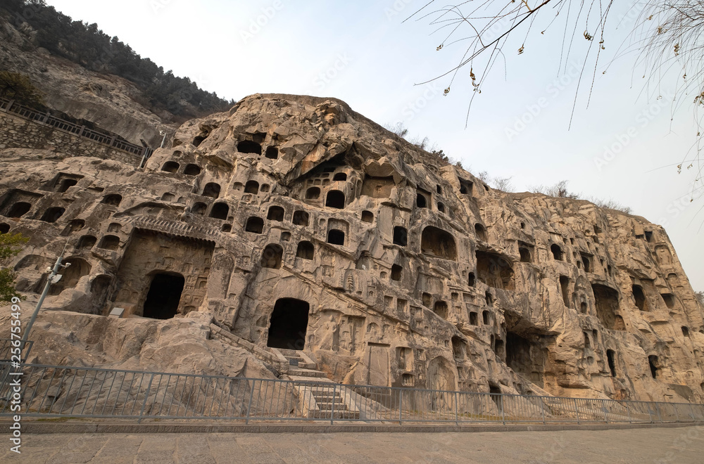
[[[272,348],[289,361],[287,377],[294,382],[298,393],[298,408],[303,415],[311,419],[354,420],[360,418],[360,412],[352,392],[329,380],[318,365],[305,353],[294,349]],[[315,382],[315,383],[308,383]]]

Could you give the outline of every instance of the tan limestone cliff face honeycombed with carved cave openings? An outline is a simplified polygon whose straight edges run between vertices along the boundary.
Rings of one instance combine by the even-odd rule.
[[[43,155],[3,154],[0,227],[32,237],[25,292],[68,242],[46,307],[201,311],[358,384],[704,401],[703,311],[660,226],[495,191],[341,101],[250,96],[144,169]]]

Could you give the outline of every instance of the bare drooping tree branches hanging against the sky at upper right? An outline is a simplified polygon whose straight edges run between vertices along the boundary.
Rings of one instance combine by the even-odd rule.
[[[642,68],[643,77],[648,78],[646,82],[652,84],[648,89],[650,94],[658,96],[658,84],[665,74],[668,79],[676,79],[672,110],[686,103],[693,105],[699,129],[703,121],[698,109],[704,105],[704,0],[631,0],[630,4],[629,13],[636,20],[629,43],[607,44],[619,22],[610,18],[613,1],[480,0],[439,7],[436,0],[429,0],[407,20],[428,21],[435,26],[436,32],[443,34],[439,44],[434,44],[438,51],[460,46],[463,53],[459,60],[448,65],[446,72],[420,84],[440,79],[446,85],[445,95],[455,81],[471,84],[474,92],[467,106],[468,120],[472,101],[482,93],[482,86],[497,62],[505,67],[507,56],[520,55],[527,47],[538,46],[531,41],[536,34],[557,29],[562,39],[558,70],[566,70],[570,53],[574,53],[573,48],[578,49],[577,41],[589,42],[586,53],[580,57],[582,69],[574,105],[580,91],[586,93],[589,105],[596,72],[602,72],[598,66],[601,61],[636,52],[636,68]],[[543,20],[547,24],[541,28],[538,25]],[[517,49],[505,49],[510,37],[519,40]],[[607,45],[615,50],[609,57],[605,56]],[[685,169],[695,173],[692,198],[703,193],[703,143],[702,131],[698,131],[696,142],[677,167],[679,172]]]

